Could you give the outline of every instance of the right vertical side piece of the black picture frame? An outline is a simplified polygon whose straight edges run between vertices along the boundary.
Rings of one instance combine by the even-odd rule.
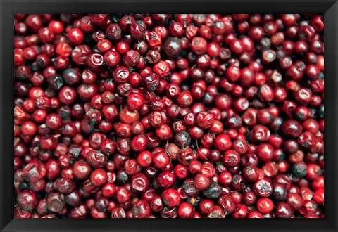
[[[334,210],[328,210],[325,208],[325,219],[330,224],[334,231],[338,231],[337,221],[337,167],[338,167],[338,2],[336,1],[326,12],[325,21],[330,20],[330,27],[325,25],[325,147],[327,147],[325,154],[330,155],[332,162],[325,162],[325,169],[329,170],[330,174],[325,173],[325,192],[327,197],[325,198],[325,205],[334,205]],[[333,32],[332,32],[333,31]],[[330,34],[330,36],[329,36]],[[329,94],[330,93],[330,94]],[[331,107],[328,107],[328,106]],[[333,108],[332,108],[333,106]],[[332,123],[332,124],[331,124]],[[330,145],[330,146],[329,146]],[[336,185],[329,186],[328,180],[334,179]],[[327,199],[330,198],[330,202]],[[327,209],[327,210],[326,210]],[[327,231],[327,230],[325,230]]]

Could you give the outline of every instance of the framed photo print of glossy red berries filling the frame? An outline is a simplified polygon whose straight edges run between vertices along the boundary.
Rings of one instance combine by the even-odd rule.
[[[15,218],[324,217],[323,15],[15,14],[14,79]]]

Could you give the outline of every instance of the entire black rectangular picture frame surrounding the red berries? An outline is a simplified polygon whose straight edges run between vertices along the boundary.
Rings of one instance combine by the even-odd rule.
[[[325,219],[13,219],[14,13],[324,13]],[[337,231],[337,0],[0,0],[1,231]],[[9,87],[9,88],[8,88]]]

